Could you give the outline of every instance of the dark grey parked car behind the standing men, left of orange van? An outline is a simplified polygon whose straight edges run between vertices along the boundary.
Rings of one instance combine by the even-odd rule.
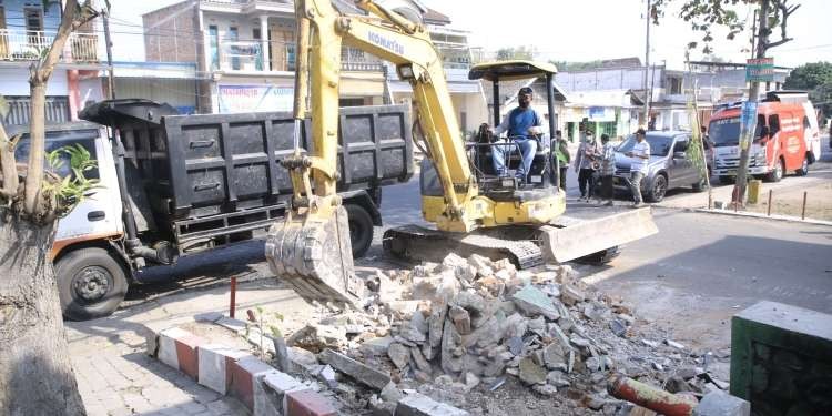
[[[686,150],[690,144],[690,132],[661,131],[648,132],[650,143],[650,162],[648,173],[641,182],[641,195],[646,201],[660,202],[668,190],[691,186],[702,191],[707,186],[700,177],[696,164],[688,158]],[[630,164],[632,158],[625,153],[632,150],[636,136],[630,135],[616,150],[616,187],[629,190]]]

